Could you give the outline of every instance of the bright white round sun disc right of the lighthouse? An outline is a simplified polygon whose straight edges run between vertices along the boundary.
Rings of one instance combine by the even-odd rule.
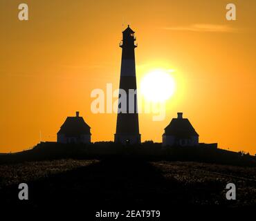
[[[141,79],[140,90],[148,101],[165,102],[172,97],[175,90],[175,81],[172,75],[173,70],[157,69],[152,70]]]

